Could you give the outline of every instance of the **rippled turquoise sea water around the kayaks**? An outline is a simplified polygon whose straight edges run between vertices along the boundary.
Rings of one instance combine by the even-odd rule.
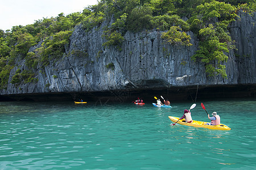
[[[208,121],[200,103],[192,118]],[[255,98],[203,103],[232,130],[170,126],[192,102],[2,102],[0,169],[256,169]]]

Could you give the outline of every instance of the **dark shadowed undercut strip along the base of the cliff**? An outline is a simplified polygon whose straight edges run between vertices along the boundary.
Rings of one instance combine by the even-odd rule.
[[[155,103],[154,96],[170,101],[216,100],[238,97],[255,97],[256,84],[187,86],[170,88],[144,88],[140,90],[110,90],[98,92],[62,92],[41,94],[0,95],[0,101],[87,101],[88,104],[131,103],[142,99],[144,103]]]

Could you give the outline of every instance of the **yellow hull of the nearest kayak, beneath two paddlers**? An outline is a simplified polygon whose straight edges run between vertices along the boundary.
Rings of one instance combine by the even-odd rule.
[[[171,121],[173,122],[177,122],[177,120],[179,120],[179,117],[173,117],[173,116],[168,116],[170,118]],[[204,125],[207,122],[201,122],[201,121],[195,121],[193,120],[192,123],[187,123],[185,122],[185,120],[179,120],[177,122],[177,124],[180,125],[187,125],[187,126],[193,126],[193,127],[197,127],[197,128],[208,128],[208,129],[215,129],[215,130],[231,130],[231,128],[229,128],[226,125],[220,124],[220,125]]]

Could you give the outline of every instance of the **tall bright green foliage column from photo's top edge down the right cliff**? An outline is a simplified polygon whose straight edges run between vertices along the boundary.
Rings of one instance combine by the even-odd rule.
[[[228,61],[227,53],[234,48],[231,37],[228,33],[228,25],[237,16],[236,8],[224,2],[213,1],[197,6],[197,11],[201,14],[201,22],[195,19],[193,22],[204,23],[205,28],[199,29],[199,50],[192,56],[194,61],[200,61],[205,65],[208,76],[221,75],[226,78],[226,67],[224,63]],[[216,22],[217,21],[217,22]],[[213,24],[209,24],[214,22]],[[194,27],[195,28],[195,27]]]

